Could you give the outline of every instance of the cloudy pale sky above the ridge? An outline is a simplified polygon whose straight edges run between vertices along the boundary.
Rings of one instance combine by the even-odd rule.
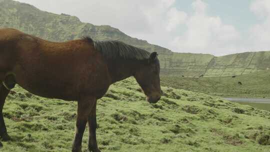
[[[16,0],[110,25],[174,52],[270,50],[270,0]]]

